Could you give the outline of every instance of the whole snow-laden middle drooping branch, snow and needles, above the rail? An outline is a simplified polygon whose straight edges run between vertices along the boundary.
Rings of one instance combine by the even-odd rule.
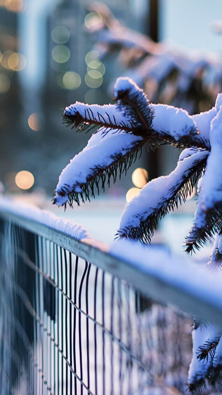
[[[185,152],[186,151],[186,152]],[[187,149],[182,152],[172,173],[146,184],[125,207],[118,235],[124,238],[150,242],[157,222],[178,202],[185,201],[206,166],[209,152]]]

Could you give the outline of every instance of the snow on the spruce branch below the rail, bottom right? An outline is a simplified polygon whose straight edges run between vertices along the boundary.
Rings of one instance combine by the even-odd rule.
[[[196,330],[192,332],[192,340],[193,340],[193,357],[190,363],[190,368],[188,372],[188,383],[195,383],[196,380],[205,377],[207,373],[207,369],[211,365],[211,357],[204,360],[198,359],[198,348],[199,346],[203,346],[203,344],[207,341],[212,341],[218,336],[221,335],[220,329],[218,329],[215,325],[209,324],[207,328],[203,325],[199,325]]]

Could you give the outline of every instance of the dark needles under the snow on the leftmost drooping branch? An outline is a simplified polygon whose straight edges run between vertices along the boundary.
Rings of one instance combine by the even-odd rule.
[[[113,179],[113,184],[117,181],[117,174],[119,171],[119,179],[123,173],[127,173],[129,167],[135,162],[137,156],[141,156],[142,147],[144,141],[135,141],[131,149],[126,152],[126,154],[114,154],[111,156],[112,163],[109,166],[94,166],[92,169],[92,175],[87,177],[87,181],[84,184],[77,184],[73,187],[70,185],[63,186],[60,190],[56,191],[58,196],[68,195],[68,200],[62,204],[65,206],[68,203],[70,207],[73,205],[73,201],[80,205],[82,201],[90,201],[91,198],[95,198],[95,190],[100,193],[100,186],[103,192],[105,191],[105,185],[110,186],[111,179]],[[81,190],[81,192],[75,192],[76,186]],[[54,197],[53,204],[57,203],[56,196]]]

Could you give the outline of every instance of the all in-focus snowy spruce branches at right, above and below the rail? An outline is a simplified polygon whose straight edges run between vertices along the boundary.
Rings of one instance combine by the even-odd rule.
[[[125,207],[117,237],[150,243],[158,220],[178,207],[198,181],[194,226],[186,237],[186,252],[199,249],[215,235],[209,266],[222,266],[222,94],[215,106],[198,115],[164,104],[152,104],[132,79],[118,78],[115,104],[66,107],[64,122],[77,131],[98,130],[87,147],[62,171],[54,204],[64,206],[95,197],[125,174],[143,146],[149,150],[170,144],[183,148],[174,171],[148,182]],[[196,323],[188,382],[192,392],[222,378],[221,332],[213,324]]]

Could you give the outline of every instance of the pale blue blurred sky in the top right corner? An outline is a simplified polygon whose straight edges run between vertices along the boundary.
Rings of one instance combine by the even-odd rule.
[[[222,55],[222,34],[215,34],[210,26],[222,21],[222,0],[162,0],[162,8],[162,39]]]

